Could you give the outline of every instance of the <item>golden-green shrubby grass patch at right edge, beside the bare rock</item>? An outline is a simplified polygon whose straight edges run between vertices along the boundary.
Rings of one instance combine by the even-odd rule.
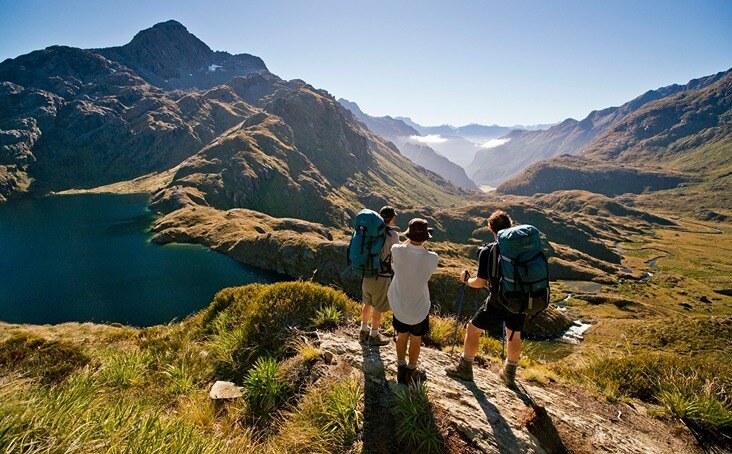
[[[598,389],[610,400],[635,397],[660,403],[700,429],[732,429],[729,364],[645,353],[624,358],[594,358],[562,373]]]

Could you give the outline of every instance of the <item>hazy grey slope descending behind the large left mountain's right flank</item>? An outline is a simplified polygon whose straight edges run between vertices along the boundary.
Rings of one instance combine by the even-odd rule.
[[[413,141],[419,136],[419,133],[403,121],[389,116],[372,117],[365,114],[358,107],[358,104],[347,99],[341,98],[338,102],[353,112],[356,118],[361,120],[371,131],[394,143],[399,151],[414,163],[437,173],[456,186],[473,191],[479,190],[478,186],[465,174],[465,169],[437,153],[431,147],[414,143]]]

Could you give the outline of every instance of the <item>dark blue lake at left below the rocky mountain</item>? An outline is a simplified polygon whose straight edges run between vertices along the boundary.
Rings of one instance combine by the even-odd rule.
[[[84,194],[0,204],[0,320],[166,323],[224,288],[273,282],[199,245],[160,246],[144,194]]]

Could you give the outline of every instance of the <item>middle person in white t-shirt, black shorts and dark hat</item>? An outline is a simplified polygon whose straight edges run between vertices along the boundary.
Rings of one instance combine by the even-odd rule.
[[[394,278],[389,285],[392,325],[397,332],[397,382],[410,384],[426,379],[417,369],[422,336],[429,332],[430,291],[427,282],[437,269],[438,256],[424,248],[433,229],[424,219],[409,221],[407,240],[391,248]],[[407,363],[407,347],[409,363]]]

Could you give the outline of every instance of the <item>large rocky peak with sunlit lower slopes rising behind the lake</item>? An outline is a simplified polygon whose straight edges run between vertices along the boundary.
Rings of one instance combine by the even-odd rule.
[[[0,200],[173,172],[153,205],[200,204],[343,225],[363,206],[450,204],[324,90],[213,52],[175,21],[107,49],[0,63]]]

